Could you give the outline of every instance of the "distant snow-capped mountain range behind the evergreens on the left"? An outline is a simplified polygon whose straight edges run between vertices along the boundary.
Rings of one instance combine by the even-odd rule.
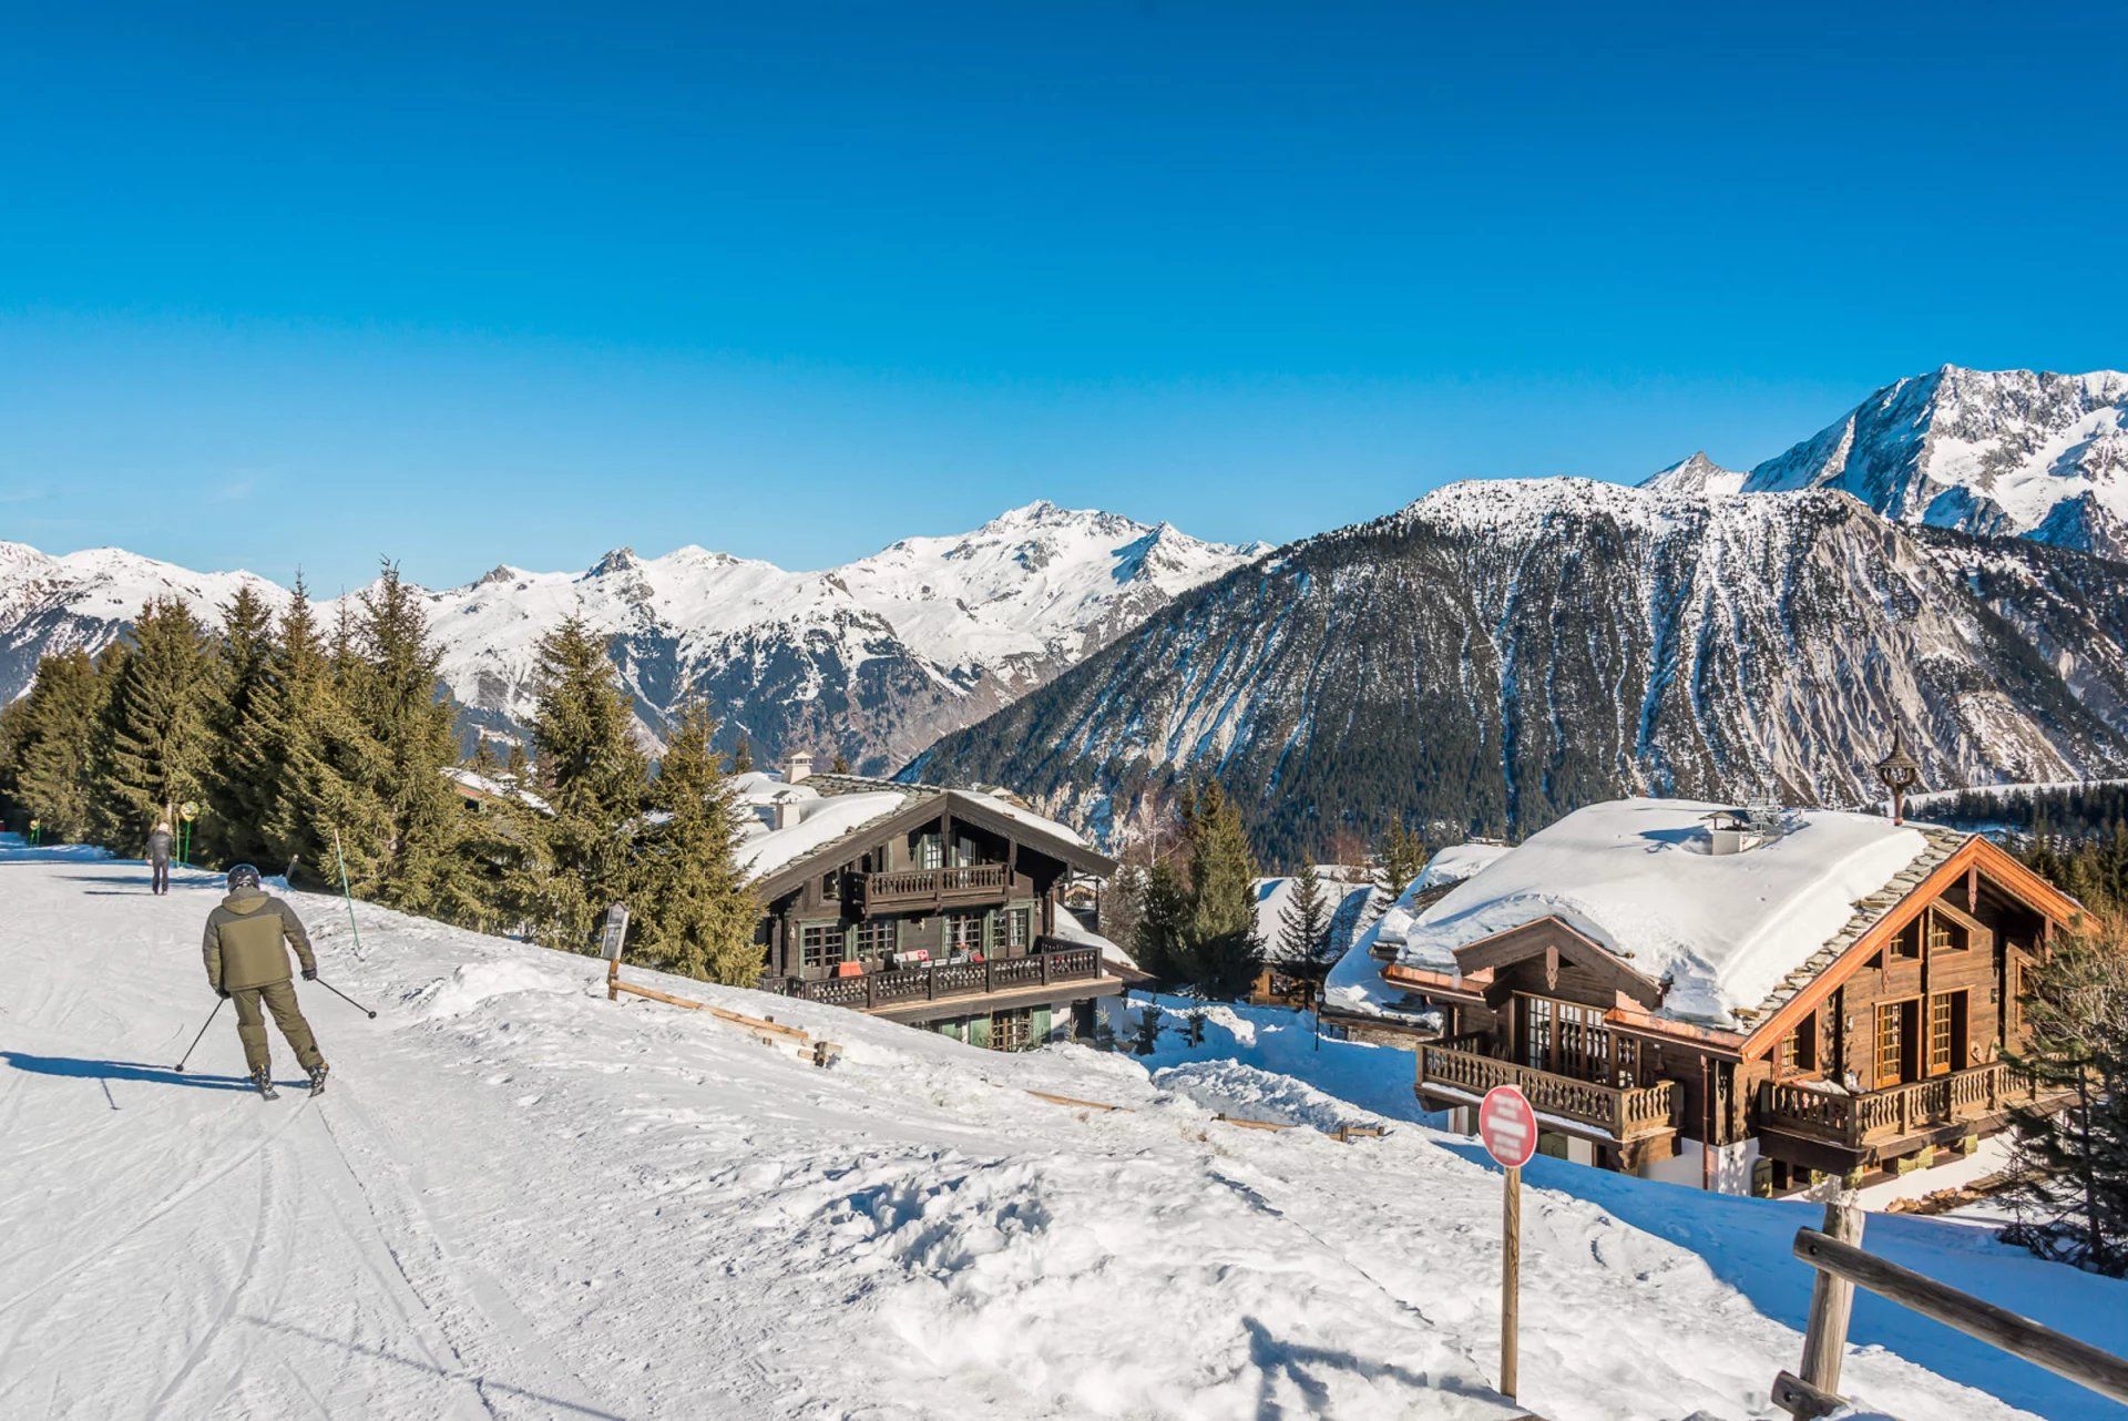
[[[541,636],[579,615],[615,638],[649,734],[700,696],[762,755],[841,751],[885,770],[1258,551],[1038,502],[826,572],[700,547],[617,549],[583,572],[502,566],[426,600],[443,681],[477,725],[523,723]],[[181,596],[213,619],[243,579],[115,549],[45,557],[0,545],[0,698],[28,685],[40,651],[117,636],[147,596]]]

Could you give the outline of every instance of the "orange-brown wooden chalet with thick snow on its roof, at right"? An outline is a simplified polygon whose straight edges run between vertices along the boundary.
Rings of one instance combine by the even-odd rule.
[[[1545,1153],[1783,1193],[2000,1130],[2032,1098],[2002,1064],[2024,974],[2077,913],[1979,836],[1626,800],[1532,836],[1330,987],[1404,1038],[1460,1127],[1511,1083]]]

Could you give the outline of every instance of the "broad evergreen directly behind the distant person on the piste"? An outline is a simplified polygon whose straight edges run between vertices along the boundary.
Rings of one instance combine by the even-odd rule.
[[[157,819],[206,787],[206,634],[183,602],[140,608],[96,728],[92,834],[138,853]]]

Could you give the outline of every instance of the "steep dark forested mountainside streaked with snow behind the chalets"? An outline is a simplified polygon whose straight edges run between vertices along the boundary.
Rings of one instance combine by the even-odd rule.
[[[1856,804],[2128,766],[2128,566],[1845,494],[1464,483],[1181,598],[911,776],[1113,834],[1217,774],[1277,862],[1404,815],[1526,834],[1617,793]]]

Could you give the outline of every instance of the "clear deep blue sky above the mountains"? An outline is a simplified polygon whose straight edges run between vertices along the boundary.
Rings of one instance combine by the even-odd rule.
[[[2109,6],[438,9],[11,13],[0,538],[1279,540],[2128,364]]]

